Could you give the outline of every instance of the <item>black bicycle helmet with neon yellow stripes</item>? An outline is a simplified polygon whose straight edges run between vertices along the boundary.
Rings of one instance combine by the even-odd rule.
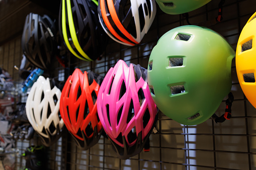
[[[107,35],[98,18],[97,0],[62,0],[59,30],[68,50],[84,61],[98,59],[107,45]]]

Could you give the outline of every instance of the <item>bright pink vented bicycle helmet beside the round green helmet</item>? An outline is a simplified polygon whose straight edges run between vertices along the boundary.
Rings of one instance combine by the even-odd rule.
[[[147,70],[119,60],[105,76],[98,95],[98,115],[121,159],[141,152],[158,112],[147,86]]]

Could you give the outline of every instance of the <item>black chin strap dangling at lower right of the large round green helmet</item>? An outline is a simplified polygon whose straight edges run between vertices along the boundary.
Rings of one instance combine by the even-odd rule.
[[[230,92],[228,94],[228,99],[226,100],[226,109],[225,109],[225,113],[222,114],[220,117],[217,116],[215,113],[212,115],[211,119],[213,119],[216,123],[222,123],[224,122],[226,119],[229,120],[231,118],[231,106],[232,103],[234,101],[234,96],[233,94]]]

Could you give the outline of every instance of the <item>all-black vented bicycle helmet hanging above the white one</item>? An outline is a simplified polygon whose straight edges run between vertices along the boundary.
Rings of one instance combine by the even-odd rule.
[[[29,62],[36,67],[48,69],[56,49],[54,22],[44,15],[30,13],[26,17],[21,45]]]

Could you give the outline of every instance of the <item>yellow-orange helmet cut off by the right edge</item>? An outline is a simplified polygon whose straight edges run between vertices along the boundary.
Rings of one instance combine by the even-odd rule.
[[[255,89],[255,20],[254,13],[247,21],[239,36],[236,47],[236,73],[242,91],[248,101],[256,108]]]

